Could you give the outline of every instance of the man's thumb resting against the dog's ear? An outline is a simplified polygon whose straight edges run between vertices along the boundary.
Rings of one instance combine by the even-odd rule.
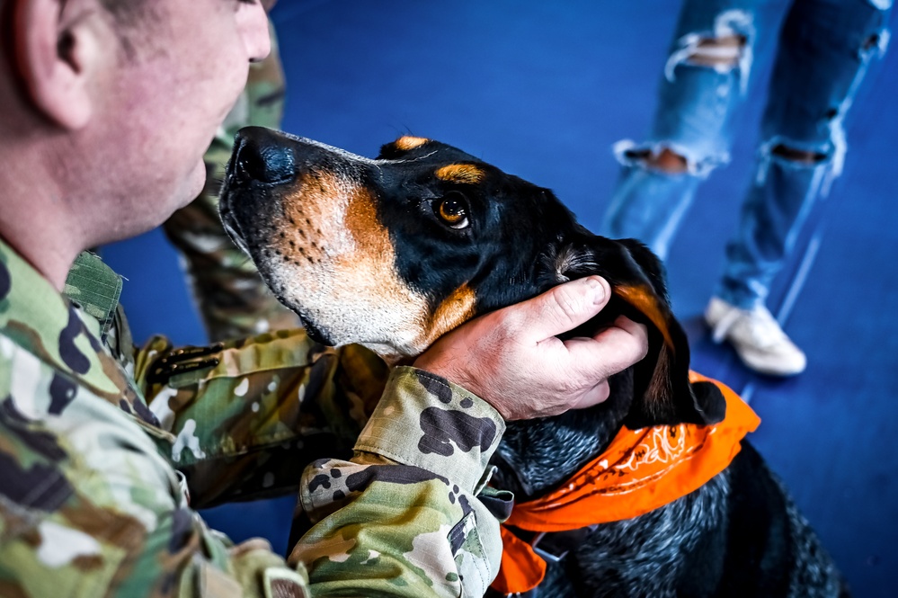
[[[521,304],[528,309],[524,330],[536,342],[560,335],[596,316],[610,297],[611,287],[600,276],[565,282]]]

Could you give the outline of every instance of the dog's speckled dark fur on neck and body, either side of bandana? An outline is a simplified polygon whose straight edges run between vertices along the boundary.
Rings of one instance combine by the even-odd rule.
[[[527,500],[599,455],[626,415],[630,371],[612,380],[608,409],[568,413],[551,425],[510,423],[497,455],[497,484]],[[697,491],[640,517],[598,525],[569,548],[561,563],[548,564],[545,581],[528,598],[849,596],[785,487],[746,441],[730,467]]]

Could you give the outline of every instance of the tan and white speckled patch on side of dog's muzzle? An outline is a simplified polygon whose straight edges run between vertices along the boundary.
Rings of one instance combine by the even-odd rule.
[[[281,201],[286,221],[274,241],[291,253],[275,270],[288,303],[335,344],[365,344],[385,358],[421,353],[428,302],[396,272],[373,192],[347,175],[318,171]]]

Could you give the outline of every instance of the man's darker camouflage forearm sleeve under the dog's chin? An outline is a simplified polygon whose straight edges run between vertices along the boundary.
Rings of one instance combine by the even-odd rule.
[[[197,508],[295,493],[308,463],[351,454],[387,380],[374,353],[302,329],[178,349],[156,336],[130,367]]]

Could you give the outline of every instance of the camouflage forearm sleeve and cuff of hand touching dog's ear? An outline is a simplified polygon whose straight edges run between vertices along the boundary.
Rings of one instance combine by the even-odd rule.
[[[300,501],[314,524],[289,562],[315,596],[482,596],[498,571],[508,495],[485,470],[502,418],[447,380],[397,368],[351,460],[319,460]]]

